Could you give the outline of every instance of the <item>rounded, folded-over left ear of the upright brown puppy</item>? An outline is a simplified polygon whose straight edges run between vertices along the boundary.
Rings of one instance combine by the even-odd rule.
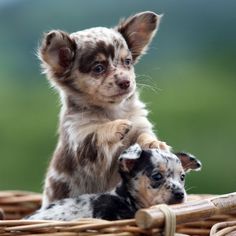
[[[46,70],[60,76],[72,66],[75,51],[76,43],[69,34],[53,30],[44,35],[38,55]]]

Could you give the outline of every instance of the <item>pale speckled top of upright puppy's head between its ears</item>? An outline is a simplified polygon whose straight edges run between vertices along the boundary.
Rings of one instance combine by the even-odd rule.
[[[114,45],[116,48],[128,49],[125,39],[114,29],[95,27],[72,33],[70,36],[75,40],[78,48],[86,47],[86,44],[96,46],[98,42],[103,41],[105,44]]]

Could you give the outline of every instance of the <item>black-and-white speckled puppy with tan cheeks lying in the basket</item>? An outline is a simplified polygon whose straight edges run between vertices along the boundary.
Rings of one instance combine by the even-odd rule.
[[[144,207],[159,203],[181,203],[186,198],[185,173],[201,163],[186,153],[174,155],[158,149],[131,146],[119,157],[121,182],[102,194],[85,194],[51,203],[29,220],[128,219]]]

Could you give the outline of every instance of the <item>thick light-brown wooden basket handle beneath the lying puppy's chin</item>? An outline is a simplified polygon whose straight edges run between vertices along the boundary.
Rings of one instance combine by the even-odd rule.
[[[236,192],[168,207],[175,213],[177,224],[207,219],[215,214],[235,211]],[[135,220],[136,224],[142,229],[163,227],[165,224],[163,212],[155,206],[139,210],[135,214]]]

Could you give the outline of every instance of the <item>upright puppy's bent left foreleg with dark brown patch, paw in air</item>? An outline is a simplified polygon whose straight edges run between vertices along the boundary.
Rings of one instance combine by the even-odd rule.
[[[101,175],[101,168],[108,170],[131,127],[129,120],[119,119],[80,128],[83,138],[79,141],[77,159],[83,171],[88,175]]]

